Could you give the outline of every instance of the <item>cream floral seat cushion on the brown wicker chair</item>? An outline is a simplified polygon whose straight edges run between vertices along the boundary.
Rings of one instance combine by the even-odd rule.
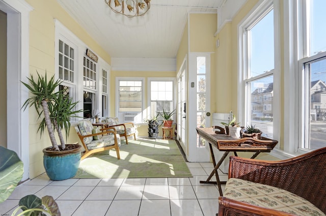
[[[227,181],[224,197],[296,215],[325,215],[309,201],[293,193],[239,178]]]

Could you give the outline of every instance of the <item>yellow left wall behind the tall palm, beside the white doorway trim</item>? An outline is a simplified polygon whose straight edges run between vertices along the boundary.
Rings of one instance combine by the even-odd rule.
[[[58,19],[90,49],[96,52],[107,63],[111,63],[111,56],[106,53],[89,35],[61,8],[56,0],[38,1],[26,0],[34,10],[30,13],[30,73],[35,75],[47,71],[48,76],[55,74],[55,19]],[[44,172],[42,149],[50,145],[47,132],[40,138],[37,133],[38,122],[36,111],[30,109],[30,178]],[[73,128],[70,134],[73,133]],[[69,142],[77,142],[72,136]]]

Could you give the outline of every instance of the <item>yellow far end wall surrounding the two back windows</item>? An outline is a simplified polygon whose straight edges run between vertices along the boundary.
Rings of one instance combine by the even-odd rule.
[[[153,72],[153,71],[112,71],[111,72],[111,80],[110,80],[110,92],[113,92],[110,94],[110,116],[115,117],[116,113],[116,77],[141,77],[144,78],[144,91],[145,91],[145,116],[149,115],[149,110],[146,107],[149,107],[150,105],[147,104],[147,78],[149,77],[176,77],[176,72]],[[175,83],[176,84],[176,83]],[[144,122],[144,124],[138,124],[137,125],[137,131],[138,136],[148,136],[147,134],[147,123]],[[158,136],[161,136],[161,130],[159,130]]]

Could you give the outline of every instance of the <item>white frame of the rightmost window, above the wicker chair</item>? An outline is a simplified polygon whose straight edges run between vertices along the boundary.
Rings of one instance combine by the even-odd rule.
[[[290,90],[295,92],[295,107],[293,108],[295,115],[293,119],[297,120],[292,120],[292,124],[295,125],[295,131],[294,136],[289,137],[289,140],[294,141],[295,144],[289,145],[288,150],[299,154],[311,151],[305,148],[305,140],[310,139],[309,135],[307,135],[310,131],[310,123],[306,112],[307,109],[310,109],[310,104],[306,103],[306,101],[311,100],[310,96],[307,95],[306,89],[308,82],[311,82],[311,80],[306,80],[305,64],[326,57],[326,51],[310,56],[310,26],[307,19],[310,15],[310,5],[307,3],[307,1],[303,0],[290,1],[288,5],[285,4],[287,6],[285,9],[288,12],[284,10],[290,14],[289,16],[292,16],[292,22],[289,21],[288,27],[294,30],[293,36],[289,37],[288,41],[285,41],[285,43],[292,44],[292,49],[285,53],[285,56],[292,59],[292,61],[289,61],[289,63],[285,61],[285,69],[291,69],[288,76],[293,77],[296,81],[289,85],[291,87]],[[291,68],[290,64],[293,64],[294,67]],[[290,94],[285,94],[285,97],[289,98]],[[285,106],[290,105],[285,104]]]

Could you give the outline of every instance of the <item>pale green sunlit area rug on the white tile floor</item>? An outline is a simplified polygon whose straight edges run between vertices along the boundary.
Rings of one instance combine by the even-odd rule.
[[[94,153],[80,162],[74,178],[192,177],[175,140],[122,140],[120,157],[115,149]]]

